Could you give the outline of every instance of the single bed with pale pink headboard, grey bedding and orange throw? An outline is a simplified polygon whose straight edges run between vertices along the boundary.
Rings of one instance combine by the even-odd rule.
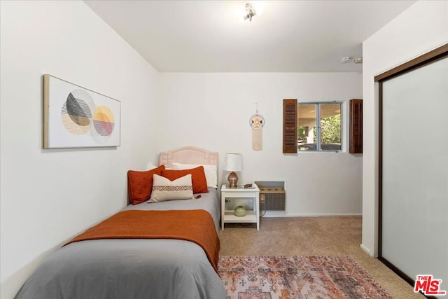
[[[191,146],[160,153],[159,159],[164,169],[202,165],[209,174],[218,165],[218,153]],[[219,239],[211,240],[217,237],[221,204],[217,188],[209,185],[214,184],[207,181],[208,192],[194,193],[193,199],[130,203],[52,253],[15,298],[226,298],[217,274]],[[194,231],[193,237],[171,232],[176,218],[183,221],[178,226]],[[127,226],[140,235],[126,235]],[[98,230],[109,235],[97,237]],[[148,231],[158,230],[160,237],[146,238]]]

